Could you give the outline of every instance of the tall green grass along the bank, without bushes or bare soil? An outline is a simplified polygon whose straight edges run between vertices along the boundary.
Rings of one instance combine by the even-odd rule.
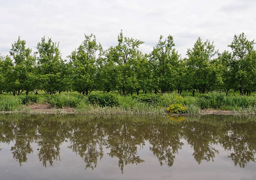
[[[99,93],[99,92],[93,92]],[[101,92],[102,94],[102,92]],[[198,114],[201,109],[218,109],[230,110],[235,113],[256,114],[256,96],[239,96],[229,95],[225,93],[212,92],[207,94],[197,94],[195,97],[187,95],[177,95],[177,93],[166,93],[153,98],[154,101],[148,103],[143,98],[131,98],[131,96],[120,96],[117,92],[112,93],[117,101],[118,106],[100,107],[92,105],[86,96],[82,96],[76,92],[61,93],[56,95],[46,95],[39,92],[37,104],[49,103],[55,107],[54,113],[65,113],[64,107],[74,108],[72,113],[88,113],[88,114],[164,114],[166,107],[170,104],[181,103],[187,107],[186,113]],[[232,93],[230,93],[232,94]],[[21,95],[25,96],[25,95]],[[153,94],[151,94],[151,99]],[[57,109],[56,109],[57,108]],[[26,109],[26,110],[24,110]],[[29,112],[28,106],[23,106],[18,96],[3,94],[0,96],[0,111],[22,111]]]

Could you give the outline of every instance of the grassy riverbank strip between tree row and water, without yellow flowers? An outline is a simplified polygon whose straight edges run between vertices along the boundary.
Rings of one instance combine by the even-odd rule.
[[[167,107],[179,104],[182,113],[168,113]],[[52,96],[0,96],[1,113],[32,114],[154,114],[154,115],[235,115],[256,114],[256,96],[225,96],[208,93],[198,97],[164,95],[119,96],[66,94]]]

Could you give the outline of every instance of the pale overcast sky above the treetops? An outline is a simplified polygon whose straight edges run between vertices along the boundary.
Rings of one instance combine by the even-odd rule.
[[[45,35],[60,42],[66,59],[84,33],[95,34],[107,49],[117,44],[121,29],[124,36],[144,41],[145,53],[169,34],[182,57],[199,36],[222,52],[234,34],[256,38],[255,9],[255,0],[0,0],[0,53],[7,55],[18,36],[36,51]]]

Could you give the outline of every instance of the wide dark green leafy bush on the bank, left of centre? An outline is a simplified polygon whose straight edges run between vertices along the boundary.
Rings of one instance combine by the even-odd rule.
[[[99,105],[101,107],[114,107],[119,105],[118,99],[110,93],[107,94],[89,94],[88,101],[92,105]]]

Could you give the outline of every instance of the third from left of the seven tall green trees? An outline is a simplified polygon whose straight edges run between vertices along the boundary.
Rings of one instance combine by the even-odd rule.
[[[73,89],[88,95],[95,89],[96,51],[98,45],[95,35],[84,35],[82,44],[70,56],[74,68]]]

